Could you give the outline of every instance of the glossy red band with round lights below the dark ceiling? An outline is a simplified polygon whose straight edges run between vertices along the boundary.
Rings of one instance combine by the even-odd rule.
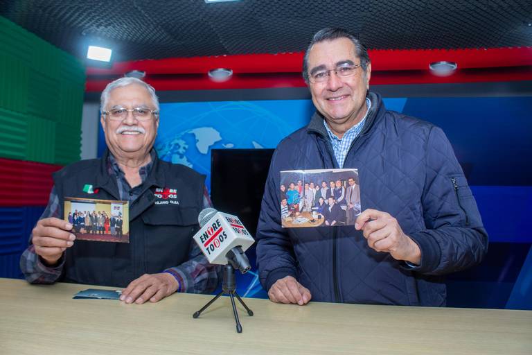
[[[532,80],[532,48],[454,50],[374,50],[373,85],[472,83]],[[251,89],[303,87],[303,53],[227,55],[118,62],[111,69],[87,69],[87,91],[100,92],[109,81],[134,69],[146,72],[145,80],[157,90]],[[429,64],[448,60],[458,70],[444,78],[429,72]],[[215,83],[209,69],[229,68],[233,77]]]

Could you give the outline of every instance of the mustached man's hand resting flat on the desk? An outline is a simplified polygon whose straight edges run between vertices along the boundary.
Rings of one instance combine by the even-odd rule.
[[[138,279],[134,279],[120,296],[120,300],[127,304],[135,302],[143,304],[159,302],[164,297],[172,295],[177,291],[177,280],[167,272],[160,274],[144,274]]]

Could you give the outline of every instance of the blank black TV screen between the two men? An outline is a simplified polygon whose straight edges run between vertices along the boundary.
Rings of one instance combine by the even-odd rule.
[[[274,149],[211,150],[211,200],[218,211],[238,216],[256,235],[260,203]]]

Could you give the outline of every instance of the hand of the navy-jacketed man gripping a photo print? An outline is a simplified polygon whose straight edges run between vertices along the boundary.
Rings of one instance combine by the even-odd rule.
[[[416,265],[421,261],[418,245],[402,232],[396,218],[376,209],[366,209],[357,217],[356,230],[362,230],[369,248],[389,252],[393,259],[406,260]]]

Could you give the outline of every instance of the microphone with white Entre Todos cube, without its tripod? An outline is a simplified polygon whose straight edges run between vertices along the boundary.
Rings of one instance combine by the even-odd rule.
[[[251,269],[244,252],[255,241],[237,216],[207,207],[199,213],[197,221],[201,229],[193,238],[209,263],[231,263],[242,274]]]

